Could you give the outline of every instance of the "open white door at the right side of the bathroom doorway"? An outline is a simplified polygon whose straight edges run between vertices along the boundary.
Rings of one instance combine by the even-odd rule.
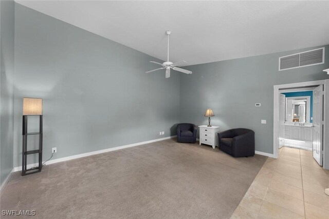
[[[323,85],[313,91],[313,157],[322,166],[323,153]]]

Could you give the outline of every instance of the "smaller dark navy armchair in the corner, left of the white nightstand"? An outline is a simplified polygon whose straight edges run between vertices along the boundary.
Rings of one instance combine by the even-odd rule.
[[[177,125],[177,142],[195,143],[197,128],[191,123],[180,123]]]

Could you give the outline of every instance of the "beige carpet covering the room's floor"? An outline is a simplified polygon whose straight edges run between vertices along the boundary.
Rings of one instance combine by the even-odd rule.
[[[266,158],[171,139],[15,172],[1,210],[35,210],[31,218],[229,218]]]

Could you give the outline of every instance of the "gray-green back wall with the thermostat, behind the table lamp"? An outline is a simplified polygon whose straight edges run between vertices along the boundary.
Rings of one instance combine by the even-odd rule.
[[[221,131],[250,128],[255,131],[255,149],[273,153],[273,85],[329,78],[322,71],[329,67],[329,46],[325,46],[324,64],[278,70],[280,56],[310,49],[315,48],[186,67],[193,74],[180,74],[180,122],[205,125],[206,109],[212,108],[212,125]]]

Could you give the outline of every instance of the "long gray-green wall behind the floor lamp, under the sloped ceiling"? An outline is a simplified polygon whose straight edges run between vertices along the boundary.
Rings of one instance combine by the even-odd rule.
[[[21,166],[23,97],[43,98],[44,160],[52,147],[56,159],[175,135],[179,75],[145,74],[158,67],[149,61],[161,62],[15,4],[14,166]]]

